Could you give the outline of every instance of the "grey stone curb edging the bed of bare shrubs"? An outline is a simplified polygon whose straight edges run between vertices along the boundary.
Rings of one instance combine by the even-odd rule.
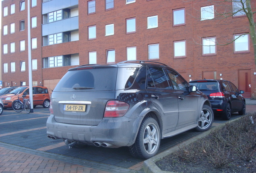
[[[234,120],[231,120],[231,121],[228,121],[227,123],[232,123],[233,121],[237,121],[239,119],[241,119],[241,117],[237,118],[237,119],[234,119]],[[204,133],[202,133],[201,135],[198,135],[192,139],[189,139],[188,141],[185,141],[184,143],[181,143],[180,145],[189,145],[190,143],[193,143],[194,141],[197,141],[198,139],[201,139],[202,137],[205,137],[207,135],[209,135],[211,133],[212,130],[215,130],[216,128],[221,128],[223,126],[225,126],[226,123],[223,123],[219,126],[216,126],[216,127],[213,127],[212,129],[208,130],[208,131],[205,131]],[[179,146],[175,146],[175,147],[172,147],[171,149],[168,149],[167,151],[164,151],[162,153],[159,153],[158,155],[150,158],[150,159],[147,159],[143,162],[143,170],[145,171],[145,173],[175,173],[175,172],[170,172],[170,171],[162,171],[156,164],[155,162],[163,159],[165,156],[173,153],[174,151],[177,151],[179,148]]]

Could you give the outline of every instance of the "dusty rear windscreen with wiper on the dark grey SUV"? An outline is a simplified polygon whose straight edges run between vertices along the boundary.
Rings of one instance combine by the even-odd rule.
[[[54,91],[107,91],[116,87],[117,68],[88,68],[68,71]]]

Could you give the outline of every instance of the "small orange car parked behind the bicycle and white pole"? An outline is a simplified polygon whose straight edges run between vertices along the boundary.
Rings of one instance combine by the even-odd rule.
[[[4,102],[4,108],[11,108],[12,102],[17,100],[18,97],[15,93],[21,92],[19,97],[23,101],[22,95],[26,95],[26,99],[29,99],[29,86],[22,86],[14,89],[10,94],[1,96]],[[50,96],[47,87],[33,86],[33,106],[42,105],[44,108],[50,107]]]

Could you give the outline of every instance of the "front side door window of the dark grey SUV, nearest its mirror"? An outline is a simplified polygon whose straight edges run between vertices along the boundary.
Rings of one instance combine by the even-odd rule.
[[[166,70],[175,90],[188,90],[188,83],[176,72]]]

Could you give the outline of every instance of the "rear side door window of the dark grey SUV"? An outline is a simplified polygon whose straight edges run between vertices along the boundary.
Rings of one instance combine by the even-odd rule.
[[[166,77],[165,73],[163,72],[163,68],[149,67],[149,74],[151,74],[151,76],[149,76],[149,78],[148,78],[149,79],[148,87],[155,86],[155,88],[169,89],[169,84],[167,81],[167,77]],[[154,84],[152,84],[152,82]]]

